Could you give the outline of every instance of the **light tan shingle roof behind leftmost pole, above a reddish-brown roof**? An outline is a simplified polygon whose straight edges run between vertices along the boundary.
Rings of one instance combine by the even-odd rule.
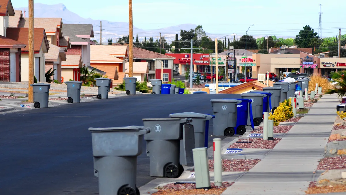
[[[62,28],[61,18],[34,18],[34,28],[45,28],[46,33],[55,33],[57,28]],[[19,21],[18,27],[28,28],[29,18]]]

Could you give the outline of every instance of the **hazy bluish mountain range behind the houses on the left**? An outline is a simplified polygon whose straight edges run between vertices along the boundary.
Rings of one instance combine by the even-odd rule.
[[[24,10],[29,10],[27,7],[20,7],[15,8],[15,10],[22,10],[24,13]],[[26,17],[28,17],[28,14],[26,14]],[[34,4],[34,17],[38,18],[62,18],[64,24],[92,24],[94,27],[94,34],[95,37],[92,38],[92,40],[96,40],[100,42],[100,21],[102,21],[102,28],[105,29],[105,31],[102,31],[102,43],[107,43],[108,39],[112,39],[113,43],[116,42],[115,40],[122,36],[128,35],[128,27],[129,23],[126,22],[111,22],[108,20],[94,20],[91,18],[82,18],[78,14],[70,11],[66,8],[66,6],[62,3],[56,4],[56,5],[46,5],[42,3],[35,3]],[[175,34],[180,34],[180,30],[177,29],[183,29],[183,30],[190,30],[194,29],[197,25],[195,24],[180,24],[177,26],[169,26],[165,28],[160,28],[156,30],[144,30],[137,27],[133,27],[134,31],[134,37],[136,37],[136,32],[138,33],[138,39],[144,40],[144,36],[160,36],[160,32],[162,36],[165,36],[165,39],[167,42],[171,42],[175,39]],[[155,38],[154,38],[155,40]]]

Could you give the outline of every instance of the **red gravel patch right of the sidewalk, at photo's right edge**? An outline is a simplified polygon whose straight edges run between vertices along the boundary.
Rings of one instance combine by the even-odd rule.
[[[319,161],[318,170],[346,169],[346,156],[326,157]]]

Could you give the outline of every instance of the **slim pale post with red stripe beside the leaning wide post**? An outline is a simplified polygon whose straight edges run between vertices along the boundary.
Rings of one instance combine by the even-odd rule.
[[[222,185],[221,139],[214,138],[214,184]]]

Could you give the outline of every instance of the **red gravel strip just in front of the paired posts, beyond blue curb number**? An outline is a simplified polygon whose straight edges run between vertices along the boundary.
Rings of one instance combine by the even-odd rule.
[[[238,142],[252,142],[252,143],[234,143],[228,148],[258,148],[258,149],[273,149],[281,138],[274,138],[273,141],[264,140],[263,138],[249,138],[239,139]]]

